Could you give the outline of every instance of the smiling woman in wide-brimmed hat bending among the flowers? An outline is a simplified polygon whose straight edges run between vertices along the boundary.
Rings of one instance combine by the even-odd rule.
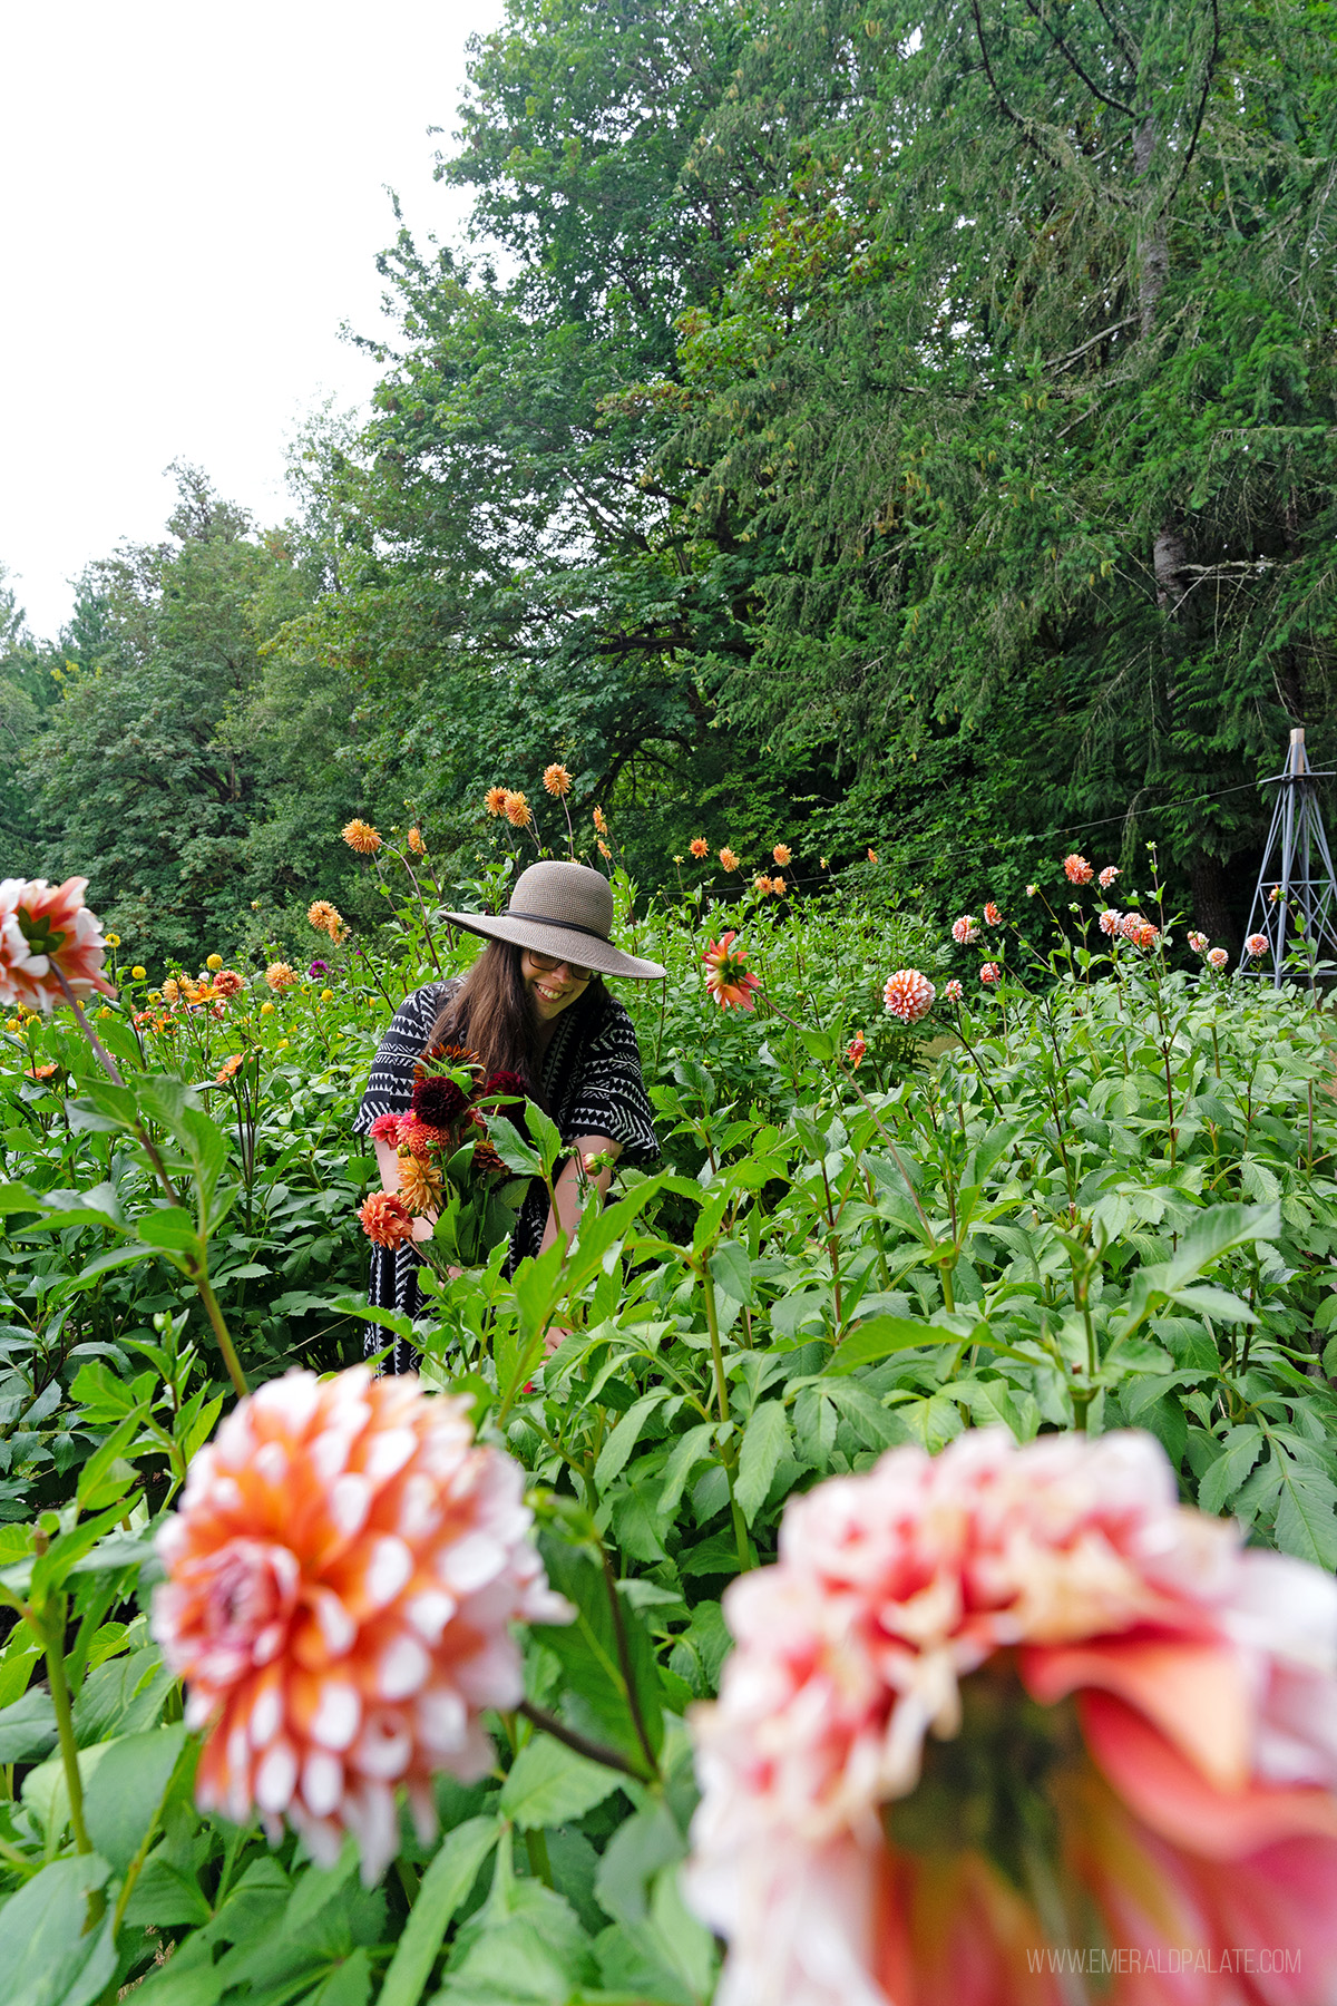
[[[559,1230],[567,1238],[575,1232],[577,1151],[609,1157],[595,1178],[599,1192],[607,1192],[613,1157],[639,1167],[659,1155],[635,1031],[603,977],[653,981],[663,969],[611,945],[613,893],[587,865],[529,865],[515,879],[505,913],[447,917],[489,945],[465,977],[427,983],[399,1005],[353,1129],[369,1135],[379,1115],[405,1113],[413,1067],[429,1045],[467,1045],[487,1073],[519,1073],[571,1153],[557,1165],[555,1204],[549,1206],[541,1178],[529,1186],[511,1234],[515,1270],[527,1254],[551,1246]],[[377,1139],[377,1163],[383,1190],[397,1192],[399,1155],[391,1143]],[[431,1220],[415,1220],[413,1238],[429,1236]],[[373,1248],[367,1300],[417,1316],[417,1268],[411,1246]],[[367,1352],[383,1350],[385,1342],[381,1326],[369,1324]],[[415,1370],[413,1346],[397,1342],[385,1370]]]

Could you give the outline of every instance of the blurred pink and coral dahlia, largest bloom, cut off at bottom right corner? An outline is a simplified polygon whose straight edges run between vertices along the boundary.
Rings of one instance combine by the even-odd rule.
[[[724,1609],[686,1882],[718,2006],[1062,2006],[1092,1942],[1141,1952],[1110,2006],[1337,1996],[1337,1585],[1181,1507],[1151,1436],[894,1448]],[[1219,1976],[1277,1944],[1295,1976]]]

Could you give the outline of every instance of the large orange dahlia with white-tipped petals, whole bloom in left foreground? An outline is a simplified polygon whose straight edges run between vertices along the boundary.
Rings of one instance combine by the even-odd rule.
[[[158,1533],[152,1629],[206,1727],[196,1801],[271,1842],[287,1821],[363,1880],[423,1835],[431,1779],[495,1763],[479,1715],[523,1697],[509,1625],[563,1623],[529,1541],[517,1462],[473,1438],[469,1402],[365,1366],[271,1380],[190,1464]]]

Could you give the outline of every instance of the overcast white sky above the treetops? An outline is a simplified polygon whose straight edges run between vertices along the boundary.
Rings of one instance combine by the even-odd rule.
[[[465,38],[501,0],[0,0],[0,566],[34,632],[68,580],[172,506],[170,459],[263,522],[285,437],[375,367],[385,187],[431,179]],[[427,126],[445,126],[445,138]]]

